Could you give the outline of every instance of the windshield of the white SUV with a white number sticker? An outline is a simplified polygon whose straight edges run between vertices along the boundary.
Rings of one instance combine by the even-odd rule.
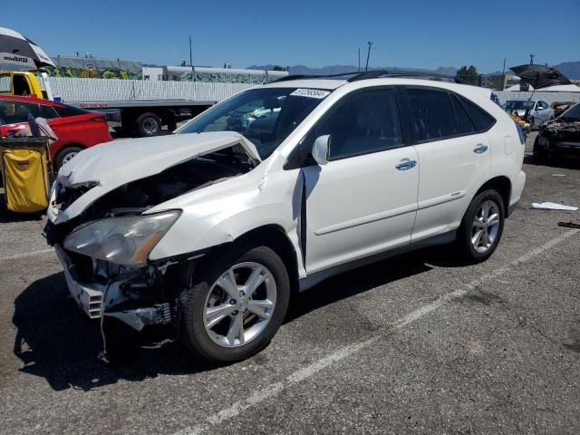
[[[264,160],[329,93],[302,88],[252,89],[209,109],[177,133],[237,131],[256,145]]]

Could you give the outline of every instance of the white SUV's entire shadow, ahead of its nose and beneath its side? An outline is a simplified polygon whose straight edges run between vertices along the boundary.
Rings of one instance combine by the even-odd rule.
[[[432,266],[426,263],[445,258],[445,252],[445,247],[422,250],[337,275],[295,295],[285,323],[379,285],[427,272]],[[211,370],[180,353],[175,344],[157,350],[136,347],[129,361],[115,365],[101,362],[97,359],[102,351],[99,324],[90,321],[73,302],[63,273],[39,279],[18,295],[13,323],[17,329],[14,354],[23,362],[20,370],[45,378],[56,391],[88,391],[119,380],[139,382],[159,374]]]

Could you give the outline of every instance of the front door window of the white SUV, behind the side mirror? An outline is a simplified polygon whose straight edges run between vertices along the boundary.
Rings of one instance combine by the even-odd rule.
[[[384,89],[346,97],[314,132],[313,140],[330,134],[329,160],[399,148],[401,115],[395,92]]]

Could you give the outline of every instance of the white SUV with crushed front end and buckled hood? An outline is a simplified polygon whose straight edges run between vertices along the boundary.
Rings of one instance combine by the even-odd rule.
[[[450,242],[485,260],[526,179],[489,90],[380,72],[289,77],[176,133],[79,153],[45,236],[104,336],[209,362],[260,351],[294,291],[353,266]]]

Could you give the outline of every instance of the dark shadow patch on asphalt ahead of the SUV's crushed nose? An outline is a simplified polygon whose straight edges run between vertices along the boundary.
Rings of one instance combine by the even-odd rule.
[[[90,321],[69,296],[63,273],[29,285],[14,301],[14,354],[22,372],[41,376],[56,391],[92,388],[119,380],[142,381],[160,373],[207,370],[179,354],[172,345],[136,349],[123,365],[97,359],[102,339],[97,321]]]

